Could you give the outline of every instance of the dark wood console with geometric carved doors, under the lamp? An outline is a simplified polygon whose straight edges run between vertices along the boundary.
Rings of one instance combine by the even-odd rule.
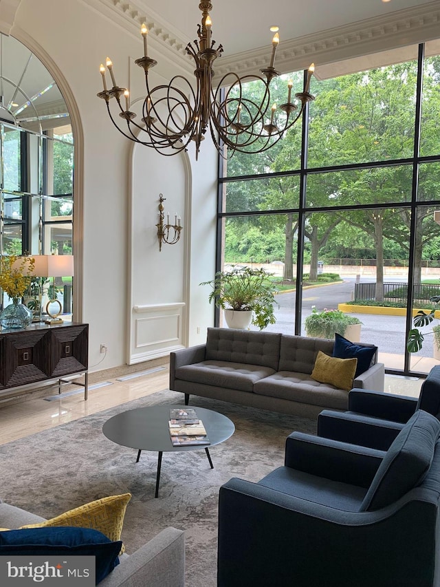
[[[87,400],[88,361],[88,324],[34,323],[24,330],[0,330],[0,398],[8,389],[58,379],[58,392],[61,383],[81,385]],[[85,383],[63,380],[74,374],[84,374]]]

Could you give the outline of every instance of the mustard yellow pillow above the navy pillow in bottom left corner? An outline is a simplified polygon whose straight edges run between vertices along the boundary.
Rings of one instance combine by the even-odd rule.
[[[124,515],[130,499],[131,493],[110,495],[108,498],[78,506],[45,522],[21,526],[21,529],[44,528],[45,526],[78,526],[80,528],[99,530],[115,542],[116,540],[121,540]],[[124,550],[125,548],[122,546],[121,552],[124,552]]]

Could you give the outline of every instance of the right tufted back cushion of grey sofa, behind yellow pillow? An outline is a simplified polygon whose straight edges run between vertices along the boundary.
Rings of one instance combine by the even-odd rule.
[[[292,371],[310,375],[314,370],[316,356],[320,350],[331,355],[333,341],[283,334],[278,371]]]

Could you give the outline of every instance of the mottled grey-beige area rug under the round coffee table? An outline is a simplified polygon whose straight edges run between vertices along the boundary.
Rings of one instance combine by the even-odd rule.
[[[181,404],[182,394],[164,390],[0,447],[0,498],[43,517],[129,491],[122,540],[135,551],[167,526],[185,531],[186,584],[214,587],[217,575],[217,500],[232,477],[258,481],[283,465],[285,438],[294,430],[315,434],[316,421],[206,398],[194,406],[214,409],[235,425],[234,435],[204,450],[164,453],[155,499],[157,453],[115,445],[102,434],[108,418],[126,409]]]

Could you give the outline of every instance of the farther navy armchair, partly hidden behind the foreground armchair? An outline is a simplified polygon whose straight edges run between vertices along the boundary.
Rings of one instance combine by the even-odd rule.
[[[348,412],[319,414],[318,436],[387,450],[417,409],[440,418],[440,365],[430,370],[419,398],[351,389]]]

